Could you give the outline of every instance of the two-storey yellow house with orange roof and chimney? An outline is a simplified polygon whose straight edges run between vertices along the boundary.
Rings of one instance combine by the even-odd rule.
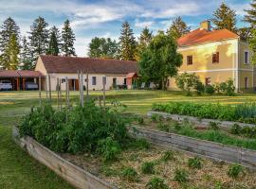
[[[204,84],[234,80],[237,92],[252,92],[256,87],[256,72],[250,62],[248,43],[227,30],[210,30],[210,21],[177,40],[183,63],[178,74],[195,73]],[[177,90],[170,78],[169,89]]]

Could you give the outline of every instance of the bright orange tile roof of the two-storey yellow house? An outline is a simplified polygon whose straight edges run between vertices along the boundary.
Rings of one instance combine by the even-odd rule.
[[[238,39],[239,36],[228,29],[212,30],[195,29],[177,40],[179,46],[189,46],[198,43],[219,42],[228,39]]]

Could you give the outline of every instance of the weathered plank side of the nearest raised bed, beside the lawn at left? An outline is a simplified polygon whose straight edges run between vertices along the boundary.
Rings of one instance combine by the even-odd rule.
[[[110,185],[108,182],[101,180],[91,173],[83,170],[64,160],[62,157],[49,150],[45,146],[40,145],[31,137],[19,138],[18,130],[13,128],[13,140],[27,153],[40,163],[45,164],[48,168],[53,170],[56,174],[62,177],[76,188],[81,189],[117,189],[117,187]]]

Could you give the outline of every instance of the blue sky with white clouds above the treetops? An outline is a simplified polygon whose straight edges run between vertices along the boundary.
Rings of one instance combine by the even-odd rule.
[[[223,0],[0,0],[0,25],[9,16],[20,26],[21,34],[28,35],[32,22],[42,16],[51,26],[62,28],[69,19],[76,35],[75,48],[80,57],[88,51],[94,37],[111,37],[119,40],[121,23],[128,21],[138,37],[148,26],[153,33],[166,30],[174,18],[182,19],[195,29],[210,19],[213,10]],[[242,22],[244,9],[250,0],[225,0],[237,13],[237,26]]]

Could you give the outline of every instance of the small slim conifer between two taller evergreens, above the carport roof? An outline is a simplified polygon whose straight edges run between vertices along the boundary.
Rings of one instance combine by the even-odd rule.
[[[21,67],[23,70],[31,70],[33,68],[33,56],[28,46],[26,36],[22,39],[20,62],[23,64]]]

